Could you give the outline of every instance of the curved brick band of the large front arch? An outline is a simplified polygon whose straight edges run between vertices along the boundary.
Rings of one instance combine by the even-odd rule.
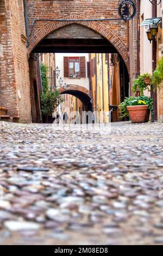
[[[70,15],[64,17],[66,20],[72,20],[72,19],[86,19],[84,16],[80,15]],[[30,45],[28,48],[28,53],[30,54],[35,46],[39,44],[39,42],[44,39],[48,34],[55,31],[56,29],[59,29],[61,27],[77,23],[80,25],[83,25],[85,27],[88,27],[92,29],[93,31],[101,34],[106,40],[108,40],[118,51],[118,53],[121,54],[124,63],[127,66],[128,72],[129,72],[129,58],[128,58],[128,52],[126,45],[121,40],[120,36],[118,36],[116,33],[114,33],[111,29],[107,28],[102,22],[97,21],[49,21],[46,23],[46,25],[41,26],[37,31],[32,34],[30,37]]]

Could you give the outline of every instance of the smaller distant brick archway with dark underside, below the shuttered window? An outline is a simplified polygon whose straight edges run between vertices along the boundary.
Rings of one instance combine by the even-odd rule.
[[[80,101],[82,101],[86,111],[92,111],[91,97],[89,90],[83,86],[77,86],[74,84],[68,84],[67,89],[63,87],[59,88],[61,94],[71,94],[76,96]]]

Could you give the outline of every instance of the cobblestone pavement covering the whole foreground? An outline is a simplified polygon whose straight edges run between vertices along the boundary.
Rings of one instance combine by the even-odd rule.
[[[0,131],[1,245],[163,244],[163,124]]]

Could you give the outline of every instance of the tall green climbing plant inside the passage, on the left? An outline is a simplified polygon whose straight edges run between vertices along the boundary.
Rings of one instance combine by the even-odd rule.
[[[52,115],[59,103],[63,102],[64,99],[61,99],[59,90],[53,91],[49,88],[48,67],[41,63],[40,69],[43,90],[42,94],[40,94],[41,112],[42,115]]]

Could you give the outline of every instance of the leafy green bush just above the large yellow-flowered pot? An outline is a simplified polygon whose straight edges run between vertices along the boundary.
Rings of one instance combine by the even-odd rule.
[[[133,84],[133,87],[132,87],[132,92],[133,93],[136,93],[136,91],[139,90],[140,95],[142,96],[144,90],[148,89],[148,91],[150,91],[149,84],[146,84],[146,82],[145,82],[146,78],[149,78],[149,81],[151,83],[152,76],[151,76],[151,74],[148,74],[148,73],[140,75],[134,80],[134,84]]]

